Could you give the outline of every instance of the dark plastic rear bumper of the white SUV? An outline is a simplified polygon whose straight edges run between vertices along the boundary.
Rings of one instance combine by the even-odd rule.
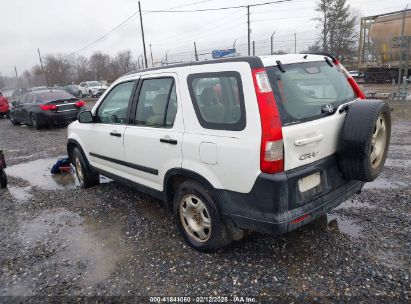
[[[298,181],[319,172],[321,184],[300,193]],[[220,208],[242,229],[283,234],[301,227],[361,191],[363,182],[346,181],[335,156],[278,174],[261,173],[250,193],[217,190]]]

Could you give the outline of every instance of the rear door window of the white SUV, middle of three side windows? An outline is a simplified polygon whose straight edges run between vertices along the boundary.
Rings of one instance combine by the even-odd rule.
[[[177,96],[173,78],[146,79],[138,97],[138,126],[171,128],[177,113]]]

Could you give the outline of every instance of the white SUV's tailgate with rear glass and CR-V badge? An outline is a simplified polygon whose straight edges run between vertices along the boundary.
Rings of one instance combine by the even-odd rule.
[[[357,99],[341,67],[319,58],[266,67],[283,126],[285,171],[334,154],[345,118],[339,109]]]

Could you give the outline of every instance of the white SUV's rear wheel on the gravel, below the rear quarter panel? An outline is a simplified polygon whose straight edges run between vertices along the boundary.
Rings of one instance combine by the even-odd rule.
[[[185,241],[198,251],[216,251],[232,242],[210,189],[194,181],[185,181],[179,186],[173,200],[173,213]]]

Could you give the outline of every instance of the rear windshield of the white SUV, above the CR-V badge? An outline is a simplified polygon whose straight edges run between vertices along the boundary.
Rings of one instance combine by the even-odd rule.
[[[283,65],[266,68],[274,92],[281,121],[298,123],[326,116],[325,105],[337,108],[356,98],[353,89],[337,66],[325,61]]]

